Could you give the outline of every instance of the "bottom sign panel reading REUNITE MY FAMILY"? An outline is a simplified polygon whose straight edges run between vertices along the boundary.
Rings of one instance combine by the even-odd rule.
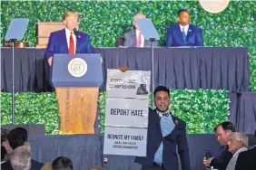
[[[105,155],[146,156],[147,128],[105,127]]]

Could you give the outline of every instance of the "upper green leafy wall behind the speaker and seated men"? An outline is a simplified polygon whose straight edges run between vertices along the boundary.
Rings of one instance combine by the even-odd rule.
[[[200,25],[206,46],[248,46],[251,90],[256,91],[256,3],[231,1],[220,14],[204,11],[198,1],[5,1],[1,2],[1,42],[15,17],[30,19],[25,42],[35,45],[36,22],[62,21],[66,9],[84,14],[80,30],[92,36],[96,47],[113,47],[115,38],[132,27],[133,14],[141,11],[153,20],[165,41],[166,29],[175,21],[177,11],[191,12],[192,24]]]

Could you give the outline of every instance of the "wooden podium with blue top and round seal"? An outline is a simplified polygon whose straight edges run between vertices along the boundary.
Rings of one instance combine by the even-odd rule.
[[[54,54],[51,73],[61,114],[60,130],[64,134],[94,134],[103,83],[101,54]]]

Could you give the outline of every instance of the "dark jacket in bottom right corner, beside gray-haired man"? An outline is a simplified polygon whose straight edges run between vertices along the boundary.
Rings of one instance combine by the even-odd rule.
[[[235,170],[256,170],[256,146],[239,154]]]

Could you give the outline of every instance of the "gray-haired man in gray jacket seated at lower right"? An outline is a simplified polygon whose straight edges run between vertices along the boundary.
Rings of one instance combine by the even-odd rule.
[[[228,143],[229,151],[233,154],[226,170],[234,170],[237,157],[241,152],[247,151],[248,137],[245,134],[233,132],[231,133]]]

